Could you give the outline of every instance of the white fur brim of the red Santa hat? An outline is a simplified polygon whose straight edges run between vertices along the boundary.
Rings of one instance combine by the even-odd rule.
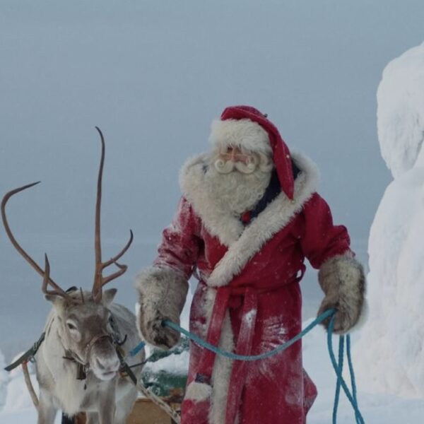
[[[272,153],[268,133],[250,119],[214,120],[209,141],[217,147],[242,146],[253,152]]]

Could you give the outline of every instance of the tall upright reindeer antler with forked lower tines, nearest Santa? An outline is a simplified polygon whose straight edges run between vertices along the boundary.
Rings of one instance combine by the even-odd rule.
[[[98,133],[100,134],[100,141],[102,143],[102,155],[100,158],[100,167],[99,167],[99,173],[98,173],[98,184],[97,184],[97,199],[95,203],[95,237],[94,237],[94,249],[95,249],[95,273],[94,273],[94,283],[93,283],[93,299],[95,302],[100,302],[102,299],[102,287],[103,285],[109,283],[110,281],[114,280],[115,278],[122,276],[122,274],[126,271],[127,266],[118,264],[118,259],[122,257],[122,255],[129,249],[131,246],[131,243],[133,241],[133,232],[129,230],[129,240],[124,246],[124,248],[119,252],[116,256],[112,257],[108,261],[102,262],[102,245],[100,241],[100,208],[102,204],[102,175],[103,175],[103,165],[105,163],[105,139],[103,138],[102,131],[100,131],[100,128],[98,126],[95,127],[95,129],[98,130]],[[112,273],[110,276],[103,277],[102,271],[103,269],[107,268],[107,266],[110,266],[112,264],[115,264],[119,270],[115,273]]]

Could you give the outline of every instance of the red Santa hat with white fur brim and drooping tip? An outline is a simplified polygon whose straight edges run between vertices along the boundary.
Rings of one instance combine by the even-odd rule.
[[[294,180],[290,151],[276,126],[250,106],[230,106],[212,123],[211,143],[216,146],[242,146],[249,151],[271,153],[281,189],[293,199]]]

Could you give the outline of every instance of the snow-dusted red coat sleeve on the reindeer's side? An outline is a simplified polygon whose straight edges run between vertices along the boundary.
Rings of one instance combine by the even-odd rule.
[[[169,266],[188,280],[192,276],[202,245],[199,237],[200,225],[200,219],[194,213],[192,205],[182,197],[171,225],[163,230],[159,254],[153,265]]]

